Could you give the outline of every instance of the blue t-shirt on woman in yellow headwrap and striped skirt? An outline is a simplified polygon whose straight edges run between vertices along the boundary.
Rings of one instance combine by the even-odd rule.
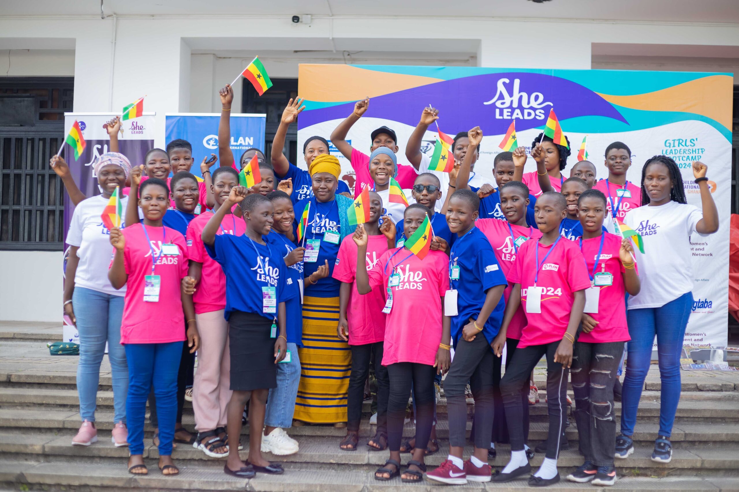
[[[308,204],[308,198],[304,198],[295,204],[295,222],[293,222],[293,230],[298,229],[298,223]],[[300,212],[298,212],[300,211]],[[303,262],[304,276],[310,276],[319,269],[322,264],[328,260],[329,274],[327,278],[321,279],[316,284],[310,284],[306,281],[304,284],[304,294],[312,297],[338,297],[338,288],[341,282],[333,278],[333,267],[336,264],[336,256],[338,256],[338,246],[341,239],[338,239],[336,245],[324,241],[324,233],[326,230],[340,232],[341,225],[338,219],[338,203],[336,199],[330,202],[319,202],[315,198],[310,198],[310,211],[308,212],[308,226],[305,231],[305,246],[307,247],[308,239],[319,239],[321,247],[319,249],[319,259],[316,262]],[[296,235],[297,237],[297,235]],[[303,246],[303,242],[300,243]]]

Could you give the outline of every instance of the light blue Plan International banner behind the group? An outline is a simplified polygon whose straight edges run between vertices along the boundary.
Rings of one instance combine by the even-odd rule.
[[[218,155],[218,113],[167,113],[166,139],[171,142],[176,138],[187,140],[192,145],[193,164],[190,172],[197,177],[203,157]],[[242,114],[231,115],[231,151],[238,159],[248,148],[256,147],[265,150],[265,131],[267,115]],[[219,165],[222,163],[217,163]],[[230,164],[230,163],[229,163]]]

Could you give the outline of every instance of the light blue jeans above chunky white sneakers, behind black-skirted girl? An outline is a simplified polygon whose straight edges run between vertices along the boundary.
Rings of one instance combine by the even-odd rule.
[[[290,428],[293,426],[295,400],[300,383],[300,359],[298,346],[287,344],[290,362],[277,363],[277,387],[270,389],[267,397],[265,426]]]

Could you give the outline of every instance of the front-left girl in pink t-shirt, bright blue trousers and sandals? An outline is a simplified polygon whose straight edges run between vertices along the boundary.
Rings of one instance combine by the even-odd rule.
[[[151,178],[139,188],[143,223],[112,228],[115,255],[108,272],[116,289],[126,285],[120,343],[129,363],[126,414],[129,426],[129,472],[146,474],[143,464],[143,426],[151,387],[159,417],[159,468],[165,475],[180,473],[174,466],[172,440],[177,418],[177,372],[183,341],[195,352],[200,344],[192,296],[182,292],[187,276],[187,247],[177,230],[163,227],[169,203],[166,182]],[[187,317],[187,330],[183,329]],[[185,338],[186,335],[186,338]]]

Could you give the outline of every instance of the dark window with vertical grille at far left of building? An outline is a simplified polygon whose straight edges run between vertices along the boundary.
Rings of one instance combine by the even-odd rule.
[[[0,250],[61,250],[64,186],[49,167],[73,78],[0,81]]]

